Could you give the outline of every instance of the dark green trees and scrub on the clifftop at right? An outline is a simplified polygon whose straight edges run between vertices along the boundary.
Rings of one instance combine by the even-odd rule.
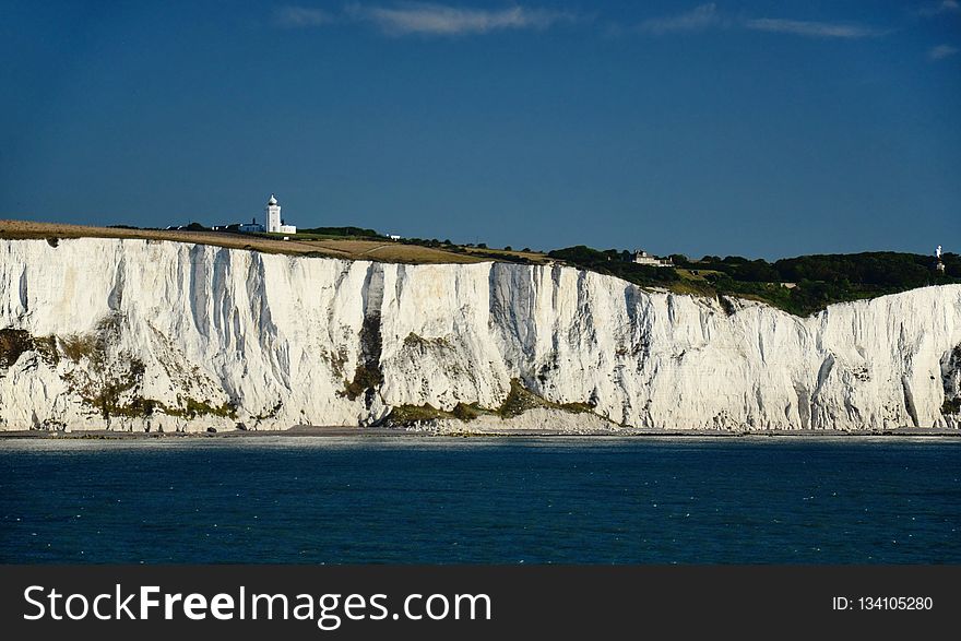
[[[756,299],[797,316],[820,311],[834,302],[961,283],[961,256],[957,253],[944,254],[944,272],[936,269],[932,256],[893,251],[802,256],[774,262],[736,256],[691,260],[673,254],[673,268],[640,265],[626,251],[598,251],[584,246],[555,250],[548,256],[642,287]]]

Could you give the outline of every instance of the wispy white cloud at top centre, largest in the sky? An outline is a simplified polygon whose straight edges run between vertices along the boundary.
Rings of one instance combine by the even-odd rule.
[[[352,4],[346,12],[352,19],[370,22],[391,35],[458,36],[506,29],[545,29],[574,20],[571,13],[520,5],[486,10],[426,2],[394,7]]]

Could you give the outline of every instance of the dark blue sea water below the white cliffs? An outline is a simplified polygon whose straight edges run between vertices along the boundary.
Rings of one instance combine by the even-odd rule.
[[[0,442],[0,562],[961,562],[961,440]]]

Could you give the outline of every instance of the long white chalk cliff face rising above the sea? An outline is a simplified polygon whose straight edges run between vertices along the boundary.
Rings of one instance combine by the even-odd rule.
[[[365,425],[519,388],[634,427],[957,428],[961,286],[798,319],[559,266],[0,241],[0,429]]]

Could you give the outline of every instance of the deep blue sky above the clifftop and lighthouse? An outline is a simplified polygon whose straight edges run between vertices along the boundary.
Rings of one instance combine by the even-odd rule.
[[[961,4],[0,0],[0,217],[961,245]]]

